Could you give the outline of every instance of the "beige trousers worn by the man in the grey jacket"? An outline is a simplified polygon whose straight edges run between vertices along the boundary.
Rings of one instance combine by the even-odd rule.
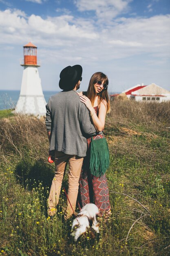
[[[48,213],[49,216],[53,216],[56,212],[56,206],[59,201],[62,180],[67,163],[69,164],[67,195],[71,205],[67,199],[67,208],[64,213],[65,219],[70,218],[73,214],[73,210],[75,210],[83,157],[78,157],[77,155],[66,155],[63,152],[55,151],[55,176],[51,184],[48,199]],[[73,207],[73,210],[71,206]]]

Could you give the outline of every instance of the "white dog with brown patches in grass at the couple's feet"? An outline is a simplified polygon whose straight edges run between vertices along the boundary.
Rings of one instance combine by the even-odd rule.
[[[99,209],[95,204],[86,204],[73,220],[71,236],[77,241],[79,236],[86,233],[89,227],[92,227],[99,234],[99,225],[96,220],[96,214]]]

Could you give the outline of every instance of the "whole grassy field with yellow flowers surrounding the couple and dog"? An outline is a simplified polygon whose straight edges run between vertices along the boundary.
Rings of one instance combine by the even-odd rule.
[[[0,255],[170,255],[170,102],[113,101],[111,108],[104,133],[112,215],[100,220],[99,242],[90,232],[72,241],[63,191],[56,217],[46,214],[54,165],[44,119],[0,119]]]

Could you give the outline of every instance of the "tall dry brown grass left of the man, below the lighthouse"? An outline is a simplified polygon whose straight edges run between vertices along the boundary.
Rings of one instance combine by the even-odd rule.
[[[48,139],[44,119],[15,115],[11,118],[0,119],[1,157],[18,154],[24,157],[25,150],[30,150],[30,157],[37,159],[48,150]]]

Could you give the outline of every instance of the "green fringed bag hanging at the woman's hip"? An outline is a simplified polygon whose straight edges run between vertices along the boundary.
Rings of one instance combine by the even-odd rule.
[[[104,175],[110,165],[108,144],[106,139],[93,139],[91,137],[90,171],[96,177]]]

